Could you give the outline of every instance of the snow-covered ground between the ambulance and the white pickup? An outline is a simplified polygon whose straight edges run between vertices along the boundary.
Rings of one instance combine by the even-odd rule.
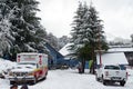
[[[95,81],[93,75],[79,75],[76,70],[50,70],[47,80],[40,81],[29,89],[133,89],[133,70],[130,70],[130,77],[124,87],[119,83],[103,86]],[[0,80],[0,89],[10,89],[8,80]],[[20,89],[20,86],[19,86]]]

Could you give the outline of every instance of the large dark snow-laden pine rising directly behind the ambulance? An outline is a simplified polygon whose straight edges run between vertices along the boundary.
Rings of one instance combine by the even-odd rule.
[[[13,12],[14,18],[10,19],[11,33],[16,38],[14,47],[20,51],[37,51],[38,44],[43,41],[38,36],[39,30],[42,32],[40,18],[35,16],[39,2],[35,0],[7,0]],[[13,48],[12,48],[13,49]]]

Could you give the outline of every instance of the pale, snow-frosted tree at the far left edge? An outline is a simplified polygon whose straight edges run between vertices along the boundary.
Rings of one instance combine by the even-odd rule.
[[[10,52],[14,38],[11,36],[11,22],[14,10],[6,4],[6,0],[0,1],[0,55]]]

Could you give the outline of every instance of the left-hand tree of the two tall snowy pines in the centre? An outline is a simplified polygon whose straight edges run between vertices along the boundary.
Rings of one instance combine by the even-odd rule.
[[[71,40],[72,44],[70,46],[70,50],[73,50],[74,52],[79,48],[82,41],[82,34],[81,34],[81,29],[82,29],[82,23],[83,23],[83,4],[80,2],[79,8],[75,12],[74,20],[72,22],[72,30],[71,30]]]

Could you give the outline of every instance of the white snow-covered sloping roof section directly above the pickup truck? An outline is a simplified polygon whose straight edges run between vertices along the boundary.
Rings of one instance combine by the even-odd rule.
[[[103,65],[129,65],[124,52],[103,53],[101,56]],[[100,65],[100,56],[96,55],[98,65]]]

